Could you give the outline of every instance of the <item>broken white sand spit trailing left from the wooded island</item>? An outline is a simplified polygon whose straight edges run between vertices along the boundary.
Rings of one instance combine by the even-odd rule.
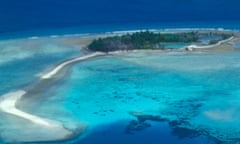
[[[93,58],[96,56],[100,56],[100,55],[105,55],[105,53],[95,52],[95,53],[91,53],[89,55],[80,56],[80,57],[65,61],[65,62],[61,63],[60,65],[56,66],[52,71],[43,75],[41,78],[42,79],[50,79],[55,74],[57,74],[61,69],[63,69],[65,66],[67,66],[69,64],[72,64],[74,62],[78,62],[81,60]],[[27,91],[18,90],[18,91],[10,92],[10,93],[0,96],[0,110],[5,113],[29,120],[33,124],[37,124],[40,126],[44,126],[48,129],[53,129],[53,130],[59,131],[59,133],[61,133],[61,134],[59,135],[59,137],[57,139],[53,139],[53,140],[65,139],[74,134],[74,132],[66,129],[63,126],[63,124],[58,121],[42,118],[40,116],[36,116],[36,115],[29,114],[27,112],[19,110],[16,107],[16,103],[26,94],[27,94]]]

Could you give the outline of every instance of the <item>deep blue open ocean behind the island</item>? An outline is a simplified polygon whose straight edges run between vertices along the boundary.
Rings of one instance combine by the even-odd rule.
[[[240,27],[238,0],[1,0],[0,36]]]

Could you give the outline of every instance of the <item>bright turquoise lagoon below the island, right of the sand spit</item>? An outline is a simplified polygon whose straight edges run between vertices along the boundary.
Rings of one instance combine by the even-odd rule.
[[[136,120],[131,112],[177,122],[175,128],[190,131],[185,136],[187,141],[176,139],[179,143],[206,143],[202,142],[206,140],[213,143],[212,139],[239,143],[240,129],[236,127],[240,124],[239,56],[237,52],[170,52],[99,57],[74,65],[40,100],[31,99],[34,107],[21,108],[61,121],[72,129],[81,123],[87,124],[85,135],[69,143],[96,143],[98,140],[111,143],[112,139],[104,138],[106,136],[102,134],[112,124],[113,127],[120,124],[119,129],[126,128],[126,121]],[[119,123],[121,120],[125,122]],[[152,127],[143,129],[139,135],[155,131],[155,125]],[[173,131],[172,127],[165,128],[166,132]],[[116,134],[120,131],[106,131],[110,131],[109,137],[122,137]],[[200,136],[192,138],[194,133],[191,132]],[[163,136],[168,143],[177,143],[171,134],[168,135],[169,139]],[[181,137],[181,132],[177,136]],[[132,143],[130,139],[137,137],[129,136],[129,141],[123,141]],[[196,139],[200,139],[199,142],[194,142]],[[150,138],[146,137],[144,141],[147,140]]]

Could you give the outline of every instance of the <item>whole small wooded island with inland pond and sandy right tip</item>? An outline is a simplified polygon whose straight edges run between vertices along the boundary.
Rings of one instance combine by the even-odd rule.
[[[140,31],[135,33],[127,33],[123,35],[114,35],[103,38],[94,39],[87,47],[92,51],[112,52],[112,51],[128,51],[136,49],[163,50],[168,49],[166,43],[185,43],[190,47],[186,50],[196,47],[208,47],[216,45],[219,42],[226,41],[233,34],[219,33],[211,31],[191,31],[179,33],[161,33],[152,31]],[[206,42],[207,41],[207,42]]]

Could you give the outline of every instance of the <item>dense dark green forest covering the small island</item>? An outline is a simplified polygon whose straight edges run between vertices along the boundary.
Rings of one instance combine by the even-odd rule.
[[[133,49],[164,49],[164,45],[161,43],[198,42],[199,35],[198,32],[154,33],[143,31],[133,34],[95,39],[88,45],[88,49],[102,52]]]

